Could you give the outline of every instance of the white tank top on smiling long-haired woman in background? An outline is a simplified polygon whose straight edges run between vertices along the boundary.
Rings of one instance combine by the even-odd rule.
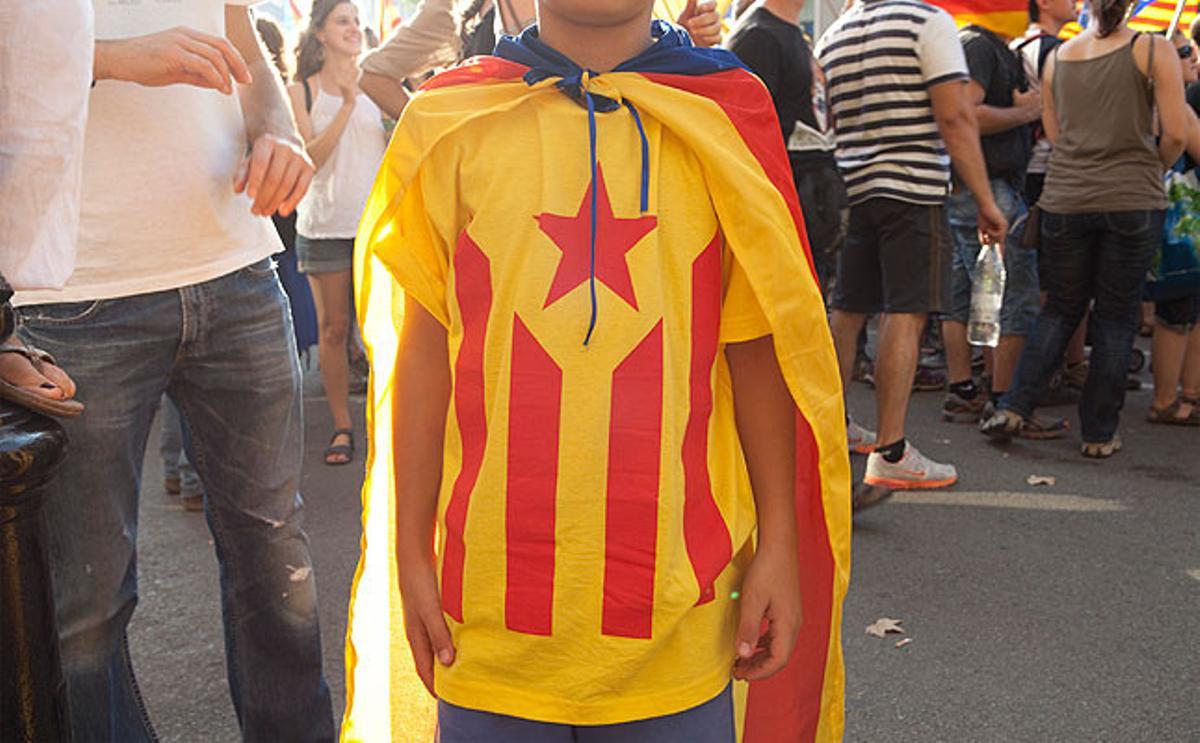
[[[341,96],[331,96],[312,80],[312,130],[325,131],[342,107]],[[371,196],[376,172],[388,149],[379,107],[364,92],[354,101],[354,113],[342,130],[329,160],[320,166],[308,193],[296,206],[296,232],[306,238],[353,239],[362,209]]]

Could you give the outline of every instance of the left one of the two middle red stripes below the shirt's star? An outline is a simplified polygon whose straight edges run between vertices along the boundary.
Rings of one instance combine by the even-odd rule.
[[[520,317],[512,322],[510,379],[505,625],[550,635],[563,372]]]

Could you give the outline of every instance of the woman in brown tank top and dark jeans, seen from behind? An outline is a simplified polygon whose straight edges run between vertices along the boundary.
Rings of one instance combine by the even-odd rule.
[[[1134,34],[1124,23],[1129,2],[1091,0],[1092,23],[1046,60],[1043,125],[1054,143],[1039,200],[1046,301],[1013,389],[982,424],[1001,439],[1020,431],[1094,301],[1079,403],[1088,457],[1121,449],[1117,426],[1142,284],[1163,239],[1163,173],[1183,152],[1188,131],[1175,47]]]

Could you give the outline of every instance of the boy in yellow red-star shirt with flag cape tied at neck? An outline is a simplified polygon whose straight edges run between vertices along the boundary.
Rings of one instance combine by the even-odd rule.
[[[360,230],[377,370],[372,269],[404,293],[373,469],[443,743],[732,741],[731,677],[748,739],[840,737],[845,431],[779,126],[650,6],[542,0],[434,78]]]

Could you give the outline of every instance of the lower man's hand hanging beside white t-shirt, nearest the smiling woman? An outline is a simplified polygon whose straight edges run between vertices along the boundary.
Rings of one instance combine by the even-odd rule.
[[[270,216],[276,211],[288,216],[312,182],[312,161],[304,146],[274,134],[262,134],[241,161],[234,178],[234,193],[246,192],[254,199],[251,211]]]

